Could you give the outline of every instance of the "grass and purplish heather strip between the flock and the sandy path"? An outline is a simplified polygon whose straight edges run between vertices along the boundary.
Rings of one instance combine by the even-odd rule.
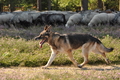
[[[105,27],[105,26],[104,26]],[[107,29],[107,30],[106,30]],[[113,35],[113,27],[105,28],[88,28],[83,27],[72,27],[66,29],[64,27],[54,27],[53,31],[60,33],[89,33],[100,38],[103,44],[107,47],[114,47],[115,50],[111,53],[107,53],[112,64],[120,63],[120,39]],[[39,35],[39,32],[43,30],[43,27],[30,27],[28,29],[4,29],[0,31],[0,66],[27,66],[37,67],[45,65],[50,57],[50,48],[47,44],[43,48],[39,48],[39,41],[34,41],[33,38]],[[108,31],[109,30],[109,31]],[[119,30],[117,26],[114,31]],[[103,32],[104,36],[101,37],[100,31]],[[108,34],[109,33],[109,34]],[[114,34],[116,34],[114,32]],[[76,50],[73,54],[75,59],[82,63],[83,57],[80,54],[81,50]],[[96,57],[97,55],[97,57]],[[105,64],[103,58],[98,54],[91,53],[89,56],[89,64]],[[71,65],[71,61],[67,58],[66,54],[60,54],[52,63],[52,65]]]

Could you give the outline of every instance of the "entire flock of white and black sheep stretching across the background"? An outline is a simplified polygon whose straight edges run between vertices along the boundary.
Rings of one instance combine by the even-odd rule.
[[[11,27],[32,25],[65,25],[69,28],[75,25],[97,26],[105,24],[120,25],[120,12],[106,13],[100,10],[87,10],[81,12],[71,11],[18,11],[1,12],[0,25]]]

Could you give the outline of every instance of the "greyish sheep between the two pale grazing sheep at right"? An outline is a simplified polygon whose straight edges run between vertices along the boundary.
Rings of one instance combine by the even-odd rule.
[[[89,12],[87,12],[87,13],[84,13],[83,19],[82,19],[81,22],[82,22],[83,24],[87,25],[87,24],[90,22],[90,20],[91,20],[96,14],[99,14],[99,13],[97,13],[97,12],[91,12],[91,11],[89,11]]]

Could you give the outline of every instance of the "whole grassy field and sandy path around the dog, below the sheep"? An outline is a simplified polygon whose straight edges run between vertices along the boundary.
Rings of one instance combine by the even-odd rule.
[[[89,63],[79,69],[73,66],[66,54],[59,54],[49,69],[41,69],[50,56],[47,44],[39,48],[39,35],[43,27],[28,29],[0,29],[0,80],[120,80],[120,26],[65,28],[53,27],[59,33],[88,33],[99,38],[114,51],[106,53],[110,65],[99,54],[91,53]],[[81,50],[73,52],[78,63],[83,62]]]

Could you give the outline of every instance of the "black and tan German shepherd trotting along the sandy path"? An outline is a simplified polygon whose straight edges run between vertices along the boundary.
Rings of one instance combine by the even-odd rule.
[[[110,63],[108,58],[106,58],[105,53],[113,51],[113,48],[106,48],[97,38],[89,34],[59,34],[57,32],[52,32],[50,29],[51,26],[45,26],[40,35],[35,37],[35,40],[41,39],[41,42],[39,43],[40,47],[47,42],[52,51],[47,64],[42,68],[50,66],[56,55],[60,52],[67,53],[73,64],[79,68],[82,68],[86,63],[88,63],[88,54],[90,52],[101,54],[106,63]],[[80,48],[82,49],[84,61],[82,64],[78,65],[76,60],[73,58],[72,51]]]

